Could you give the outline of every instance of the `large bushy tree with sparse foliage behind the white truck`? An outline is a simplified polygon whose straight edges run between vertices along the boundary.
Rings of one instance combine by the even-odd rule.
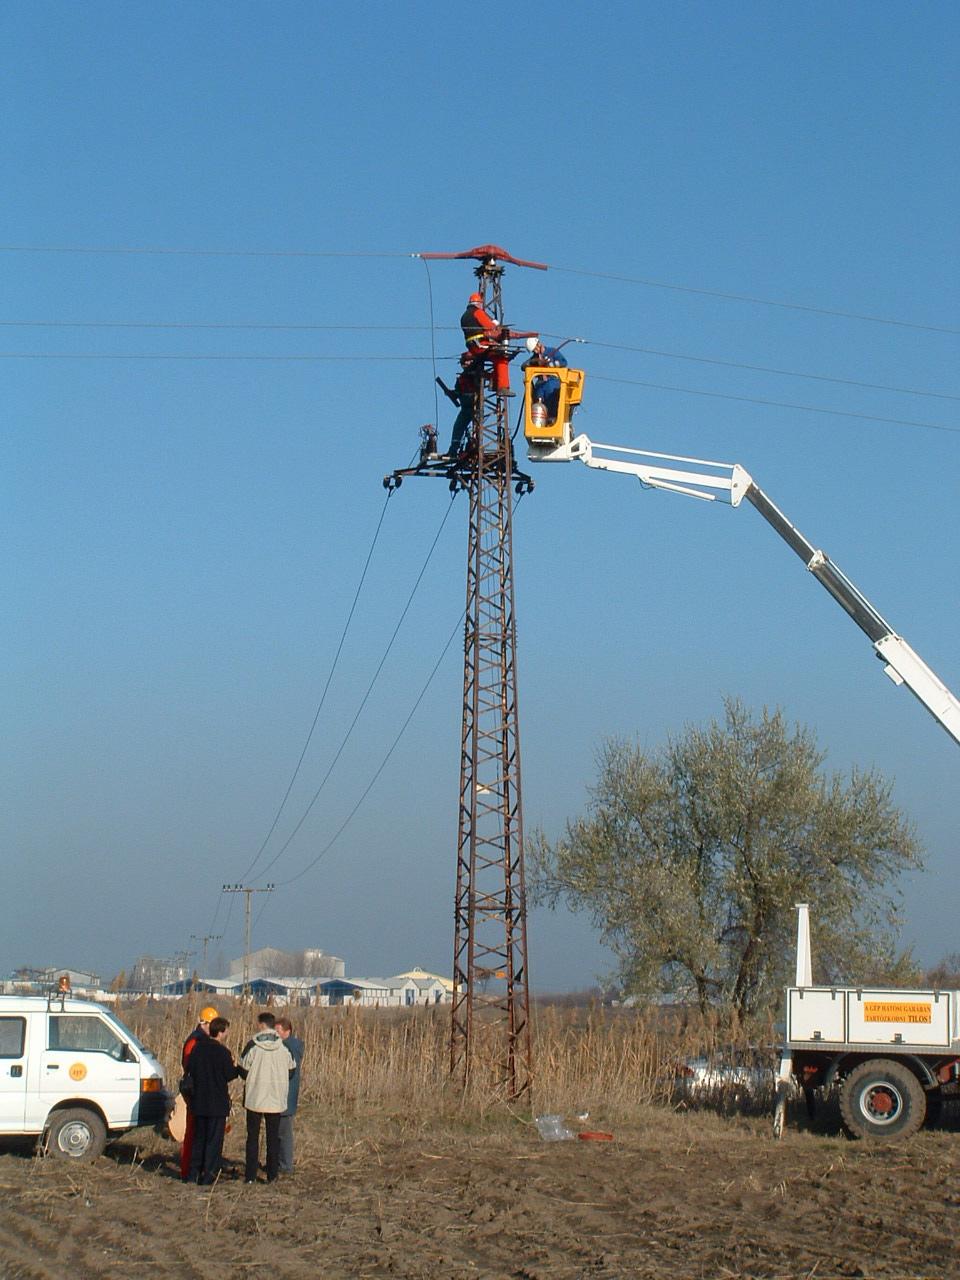
[[[814,904],[820,980],[915,980],[891,884],[920,855],[890,785],[827,777],[806,728],[724,705],[655,755],[604,742],[588,814],[531,841],[535,895],[593,914],[627,993],[772,1005],[796,901]]]

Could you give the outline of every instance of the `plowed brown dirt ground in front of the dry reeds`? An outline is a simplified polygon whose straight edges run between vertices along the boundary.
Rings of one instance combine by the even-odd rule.
[[[513,1117],[302,1111],[296,1172],[238,1180],[242,1112],[210,1189],[154,1135],[92,1165],[0,1148],[3,1280],[960,1276],[956,1121],[897,1146],[649,1108],[614,1140]],[[262,1175],[261,1175],[262,1176]]]

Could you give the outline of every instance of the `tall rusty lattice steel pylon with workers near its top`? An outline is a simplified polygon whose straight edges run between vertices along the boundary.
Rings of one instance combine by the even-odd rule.
[[[486,315],[503,326],[503,262],[524,262],[495,244],[422,259],[472,259]],[[500,328],[470,366],[479,376],[470,445],[456,458],[421,454],[420,465],[384,479],[439,476],[470,497],[463,627],[457,883],[453,904],[451,1074],[466,1089],[483,1075],[498,1096],[529,1096],[531,1047],[526,963],[526,890],[520,787],[513,492],[532,481],[516,468],[508,411],[512,396],[494,361],[516,353]],[[506,365],[502,365],[504,369]],[[499,385],[498,385],[499,384]],[[445,388],[444,388],[445,389]]]

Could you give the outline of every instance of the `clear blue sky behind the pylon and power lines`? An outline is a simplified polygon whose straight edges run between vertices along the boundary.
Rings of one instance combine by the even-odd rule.
[[[549,264],[507,274],[507,316],[588,339],[581,429],[742,462],[960,690],[957,27],[948,4],[559,0],[503,31],[433,3],[5,4],[0,840],[17,910],[0,968],[115,972],[223,928],[220,884],[300,756],[381,476],[421,422],[449,428],[430,325],[449,371],[472,276],[428,275],[417,251],[493,242]],[[220,252],[76,252],[151,247]],[[527,828],[579,812],[604,735],[655,749],[724,694],[781,705],[832,768],[895,780],[928,851],[905,940],[955,950],[956,746],[792,554],[748,507],[581,467],[535,479],[516,525]],[[447,502],[425,484],[390,499],[261,867],[329,768]],[[449,969],[456,641],[301,872],[460,617],[458,502],[270,870],[292,883],[257,942],[321,946],[352,973]],[[530,950],[541,989],[607,963],[562,915],[535,915]]]

